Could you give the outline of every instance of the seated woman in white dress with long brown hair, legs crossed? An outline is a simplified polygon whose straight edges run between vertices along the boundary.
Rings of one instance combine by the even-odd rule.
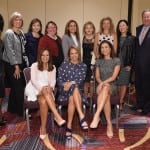
[[[54,102],[53,90],[56,83],[56,68],[52,64],[52,56],[48,49],[42,49],[38,54],[38,61],[31,66],[31,80],[26,86],[25,94],[29,101],[38,99],[40,106],[40,139],[49,149],[54,149],[50,144],[46,134],[46,124],[48,109],[53,112],[54,120],[59,126],[65,123],[65,120],[57,112]]]

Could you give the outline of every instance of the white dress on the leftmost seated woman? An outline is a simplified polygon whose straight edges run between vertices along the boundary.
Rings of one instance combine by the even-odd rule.
[[[25,87],[25,96],[28,101],[36,101],[37,95],[43,86],[50,86],[54,89],[56,84],[56,68],[52,71],[40,71],[37,67],[37,62],[31,66],[31,80]]]

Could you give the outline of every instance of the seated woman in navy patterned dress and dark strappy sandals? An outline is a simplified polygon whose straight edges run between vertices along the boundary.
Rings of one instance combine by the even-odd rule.
[[[86,76],[86,65],[81,62],[80,49],[71,46],[68,51],[68,60],[65,60],[58,69],[59,101],[68,101],[68,122],[66,136],[72,136],[72,121],[75,109],[78,112],[80,126],[83,130],[88,129],[85,116],[82,112],[83,83]]]

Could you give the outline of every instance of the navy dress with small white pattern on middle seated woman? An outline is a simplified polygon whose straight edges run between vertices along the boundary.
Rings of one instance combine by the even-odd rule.
[[[86,65],[82,62],[78,64],[73,64],[68,61],[64,61],[58,69],[58,90],[59,90],[59,101],[67,101],[72,95],[75,87],[79,88],[82,101],[85,101],[83,95],[83,83],[86,76]],[[73,84],[68,91],[64,91],[63,83],[69,81],[75,81],[76,84]]]

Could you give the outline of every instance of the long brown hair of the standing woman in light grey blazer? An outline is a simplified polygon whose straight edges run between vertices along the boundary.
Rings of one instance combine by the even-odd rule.
[[[67,22],[67,24],[66,24],[66,26],[65,26],[65,33],[64,33],[64,34],[67,34],[68,36],[71,36],[70,31],[69,31],[69,26],[70,26],[70,24],[71,24],[72,22],[75,23],[75,25],[76,25],[76,29],[77,29],[77,30],[76,30],[76,32],[75,32],[75,35],[76,35],[78,41],[80,41],[79,26],[78,26],[78,23],[77,23],[75,20],[69,20],[69,21]]]

